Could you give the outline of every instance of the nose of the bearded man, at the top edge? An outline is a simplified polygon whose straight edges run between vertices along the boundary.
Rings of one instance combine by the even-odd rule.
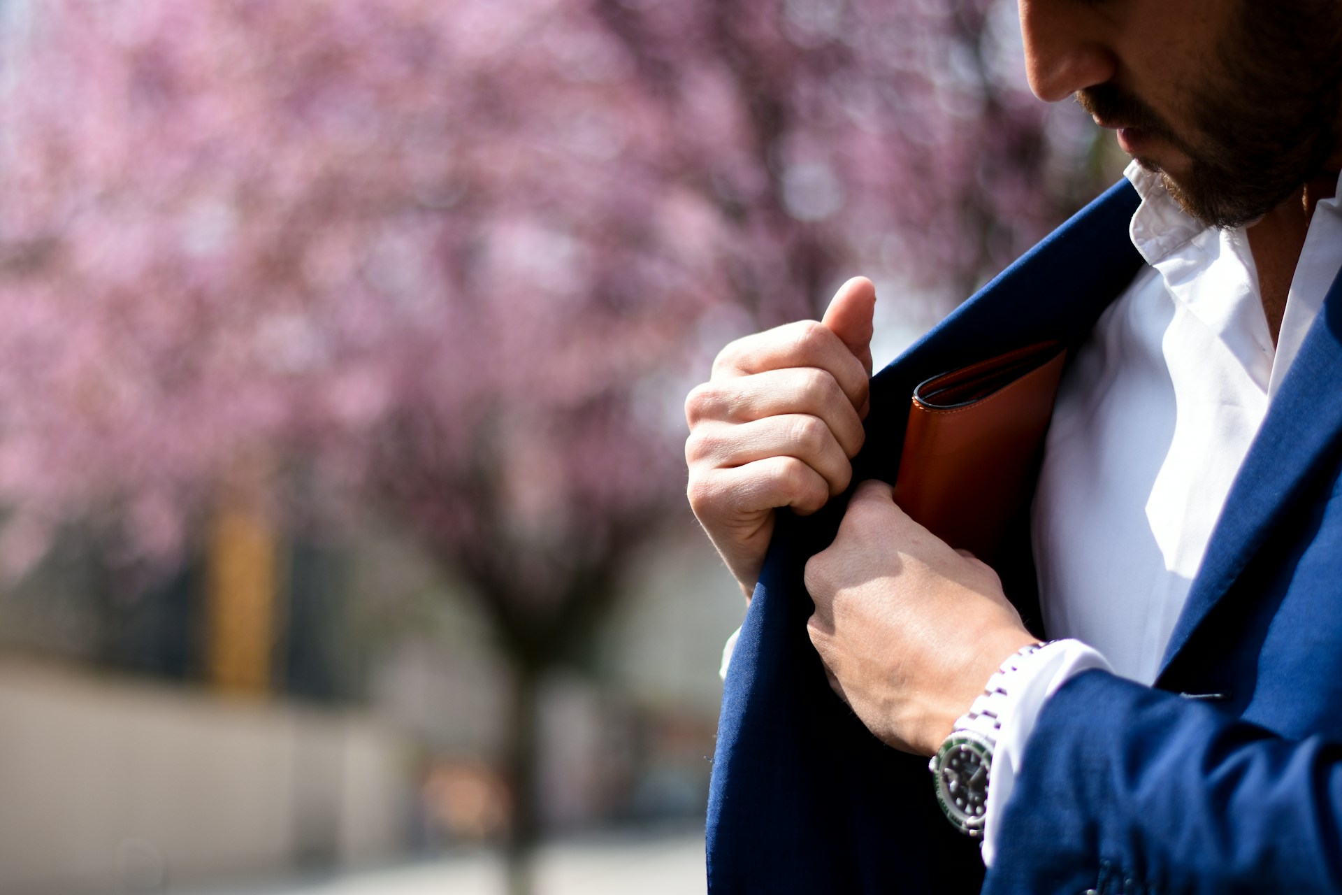
[[[1076,0],[1019,0],[1029,89],[1045,102],[1071,97],[1114,76],[1118,60],[1104,23]]]

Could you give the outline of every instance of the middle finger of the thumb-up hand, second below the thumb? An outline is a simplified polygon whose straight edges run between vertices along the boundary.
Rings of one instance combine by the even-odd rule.
[[[706,420],[753,423],[770,416],[808,415],[824,421],[849,458],[856,456],[866,437],[862,419],[839,382],[813,366],[705,382],[690,392],[684,408],[691,429]]]

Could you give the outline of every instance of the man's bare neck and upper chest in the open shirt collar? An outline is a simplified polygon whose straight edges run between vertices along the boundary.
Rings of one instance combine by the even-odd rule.
[[[1291,280],[1300,260],[1300,250],[1304,248],[1314,207],[1319,200],[1331,199],[1337,189],[1342,158],[1333,158],[1330,162],[1329,170],[1304,181],[1276,208],[1247,228],[1253,264],[1257,267],[1263,313],[1274,345],[1282,331],[1286,299],[1291,293]]]

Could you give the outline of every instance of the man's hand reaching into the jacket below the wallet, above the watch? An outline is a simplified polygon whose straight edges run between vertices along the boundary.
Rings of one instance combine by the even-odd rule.
[[[829,686],[903,751],[937,751],[997,667],[1037,643],[997,574],[910,519],[884,482],[858,487],[805,581]]]

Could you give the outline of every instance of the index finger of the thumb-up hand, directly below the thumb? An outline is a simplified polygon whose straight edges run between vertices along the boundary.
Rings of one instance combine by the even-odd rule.
[[[824,370],[854,408],[867,403],[867,366],[816,321],[786,323],[731,342],[713,362],[713,381],[790,368]]]

